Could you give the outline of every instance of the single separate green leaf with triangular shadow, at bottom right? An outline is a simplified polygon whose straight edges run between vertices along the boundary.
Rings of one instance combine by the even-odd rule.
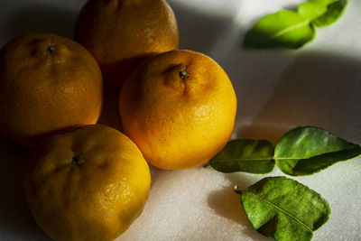
[[[285,177],[264,178],[236,193],[255,229],[279,241],[310,240],[331,212],[319,193]]]

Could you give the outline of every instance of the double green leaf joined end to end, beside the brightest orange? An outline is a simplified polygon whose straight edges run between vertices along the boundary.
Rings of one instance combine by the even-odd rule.
[[[361,154],[361,147],[313,126],[297,127],[273,144],[265,140],[234,140],[209,164],[217,171],[264,174],[274,163],[292,176],[310,175]]]

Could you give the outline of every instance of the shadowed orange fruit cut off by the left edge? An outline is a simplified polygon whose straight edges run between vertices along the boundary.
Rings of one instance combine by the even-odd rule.
[[[97,61],[78,42],[29,33],[0,51],[0,132],[33,147],[46,136],[95,124],[103,103]]]

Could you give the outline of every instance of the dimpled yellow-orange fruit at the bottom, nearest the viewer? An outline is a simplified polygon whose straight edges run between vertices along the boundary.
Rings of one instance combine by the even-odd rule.
[[[51,136],[32,155],[24,190],[54,240],[113,240],[138,218],[151,176],[137,146],[116,129],[86,125]]]

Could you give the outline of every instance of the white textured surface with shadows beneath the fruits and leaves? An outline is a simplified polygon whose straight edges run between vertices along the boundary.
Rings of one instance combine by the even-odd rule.
[[[169,0],[180,28],[180,48],[218,61],[236,88],[232,138],[273,142],[298,125],[317,125],[361,144],[361,1],[318,29],[297,51],[244,50],[245,32],[264,14],[292,8],[296,0]],[[84,0],[0,1],[0,45],[24,32],[72,37]],[[106,90],[101,123],[119,127],[117,90]],[[49,240],[32,220],[22,192],[28,153],[0,135],[0,240]],[[132,227],[117,240],[267,240],[245,217],[232,187],[246,188],[268,175],[223,174],[208,168],[161,171],[151,167],[150,198]],[[361,240],[361,158],[311,176],[294,178],[329,201],[329,222],[313,240]]]

